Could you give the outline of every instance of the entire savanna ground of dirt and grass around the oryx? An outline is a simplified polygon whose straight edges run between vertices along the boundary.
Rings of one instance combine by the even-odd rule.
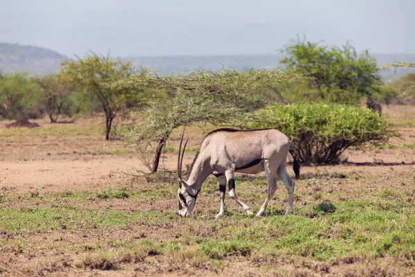
[[[146,170],[100,118],[6,129],[0,123],[0,275],[4,276],[413,276],[415,108],[385,107],[402,134],[382,148],[349,150],[336,166],[303,167],[293,215],[286,189],[264,217],[205,181],[194,215],[178,217],[176,179]],[[190,164],[203,134],[190,128]],[[176,168],[180,134],[163,166]],[[293,175],[291,165],[288,172]],[[126,174],[127,173],[127,174]],[[252,211],[264,175],[237,175]]]

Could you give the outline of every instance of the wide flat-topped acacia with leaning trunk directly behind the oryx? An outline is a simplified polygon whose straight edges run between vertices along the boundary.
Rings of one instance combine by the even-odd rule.
[[[255,109],[264,107],[266,101],[259,94],[261,88],[279,89],[300,76],[294,72],[274,69],[238,72],[194,71],[187,75],[173,74],[158,77],[142,75],[115,87],[148,87],[154,92],[173,91],[173,98],[153,98],[148,109],[140,112],[144,122],[133,125],[126,136],[129,145],[140,154],[151,172],[158,170],[160,155],[173,130],[180,126],[212,123],[231,124],[246,120]],[[156,143],[154,143],[156,141]]]

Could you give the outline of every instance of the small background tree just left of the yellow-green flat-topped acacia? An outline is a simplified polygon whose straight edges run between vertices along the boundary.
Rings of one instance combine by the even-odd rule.
[[[65,82],[59,74],[45,75],[33,79],[41,87],[39,102],[46,109],[51,123],[56,123],[59,114],[67,112],[71,101],[68,97],[75,91],[71,82]]]

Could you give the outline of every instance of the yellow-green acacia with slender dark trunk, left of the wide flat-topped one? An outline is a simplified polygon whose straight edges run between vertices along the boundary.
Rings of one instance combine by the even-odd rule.
[[[105,139],[109,140],[113,119],[119,111],[131,101],[136,100],[136,93],[126,88],[111,88],[101,84],[115,82],[133,75],[133,65],[122,60],[112,60],[109,55],[91,53],[77,60],[66,60],[61,64],[60,73],[66,81],[75,82],[85,93],[98,96],[105,114]]]

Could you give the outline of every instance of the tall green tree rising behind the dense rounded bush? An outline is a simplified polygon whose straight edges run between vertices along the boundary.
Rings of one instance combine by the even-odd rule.
[[[313,78],[304,88],[305,100],[357,104],[362,96],[371,98],[381,84],[376,61],[369,51],[358,55],[350,44],[342,48],[320,46],[297,38],[282,53],[286,55],[282,64]],[[308,89],[312,90],[310,98]]]

